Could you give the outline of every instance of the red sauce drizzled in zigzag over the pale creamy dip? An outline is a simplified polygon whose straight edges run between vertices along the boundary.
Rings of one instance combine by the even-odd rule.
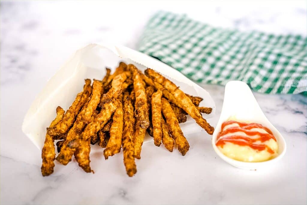
[[[259,145],[259,144],[254,144],[254,142],[256,141],[267,141],[270,139],[273,139],[276,141],[276,138],[273,136],[272,131],[267,128],[264,127],[260,124],[257,123],[245,123],[245,122],[237,122],[234,120],[231,121],[227,121],[227,122],[223,122],[222,126],[221,126],[221,130],[224,129],[225,126],[227,125],[231,125],[231,124],[238,124],[239,127],[230,127],[224,131],[221,131],[218,135],[217,135],[217,142],[216,142],[216,146],[220,146],[223,148],[223,145],[225,145],[225,142],[231,142],[233,144],[236,145],[240,145],[240,146],[249,146],[252,149],[256,149],[258,151],[262,151],[264,149],[267,149],[267,151],[271,154],[274,154],[274,151],[272,149],[270,149],[270,147],[268,147],[267,145]],[[253,128],[260,128],[265,130],[267,133],[261,133],[258,131],[251,131],[251,129]],[[241,136],[241,135],[230,135],[228,137],[222,137],[225,134],[229,134],[229,133],[235,133],[235,132],[244,132],[246,135],[249,136],[255,136],[258,135],[258,138],[250,138],[250,137],[245,137],[245,136]]]

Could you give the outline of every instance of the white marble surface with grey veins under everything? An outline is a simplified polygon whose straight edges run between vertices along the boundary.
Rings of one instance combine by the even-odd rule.
[[[135,48],[142,27],[158,9],[186,12],[216,26],[306,35],[300,2],[6,2],[0,3],[1,204],[306,204],[307,100],[302,95],[255,93],[268,119],[285,137],[285,157],[266,170],[226,164],[202,132],[190,150],[144,144],[137,174],[129,178],[122,154],[91,156],[95,174],[76,162],[42,177],[40,151],[21,132],[35,95],[72,53],[89,43],[114,41]],[[216,102],[223,87],[203,85]]]

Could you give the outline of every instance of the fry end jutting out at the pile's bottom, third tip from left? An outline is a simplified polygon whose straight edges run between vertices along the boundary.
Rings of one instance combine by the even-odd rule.
[[[81,141],[80,146],[76,148],[74,153],[75,159],[79,166],[87,173],[91,172],[90,167],[90,152],[91,152],[91,138]]]

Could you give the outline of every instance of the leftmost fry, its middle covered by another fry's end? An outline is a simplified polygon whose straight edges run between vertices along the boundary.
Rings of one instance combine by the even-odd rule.
[[[49,127],[56,126],[57,123],[63,118],[65,111],[58,106],[56,108],[56,118],[51,122]],[[44,147],[41,151],[41,158],[43,159],[43,163],[41,165],[41,173],[43,176],[48,176],[52,174],[54,167],[54,159],[56,157],[55,149],[54,149],[54,140],[52,136],[46,134]]]

